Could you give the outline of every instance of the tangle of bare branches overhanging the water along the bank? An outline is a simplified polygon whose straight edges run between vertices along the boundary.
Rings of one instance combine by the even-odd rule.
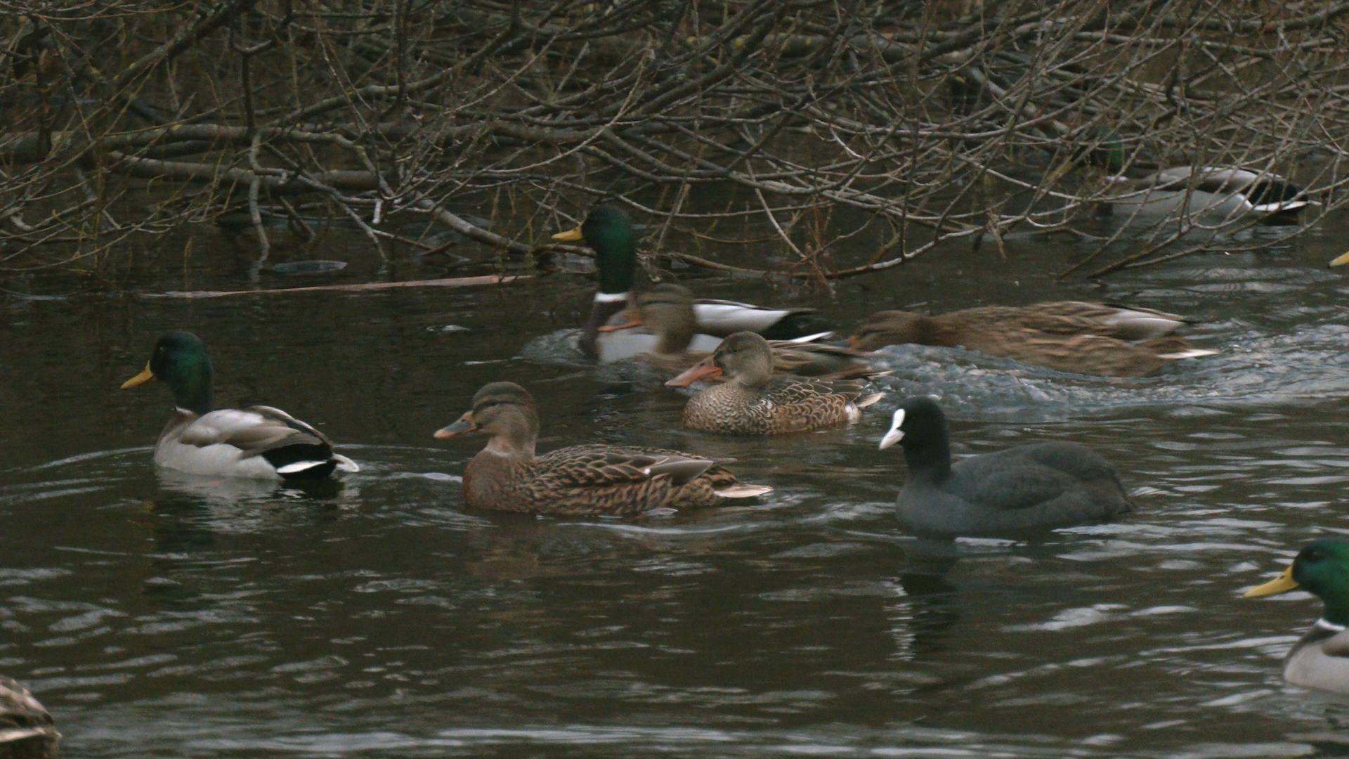
[[[1099,276],[1267,246],[1344,203],[1346,1],[0,9],[0,270],[227,216],[259,261],[268,220],[322,217],[380,257],[434,247],[409,219],[525,255],[608,199],[700,266],[747,246],[823,282],[1036,232],[1095,240],[1063,273]],[[1097,217],[1124,192],[1113,174],[1178,165],[1291,176],[1315,205],[1273,231],[1259,213]],[[1114,253],[1125,235],[1144,244]]]

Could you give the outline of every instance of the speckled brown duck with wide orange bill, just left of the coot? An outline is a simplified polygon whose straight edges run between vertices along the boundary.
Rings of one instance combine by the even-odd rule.
[[[777,435],[851,424],[863,408],[881,400],[865,393],[865,380],[819,380],[773,374],[768,340],[754,332],[726,338],[712,355],[666,382],[687,388],[704,377],[724,375],[684,407],[684,425],[704,432]]]

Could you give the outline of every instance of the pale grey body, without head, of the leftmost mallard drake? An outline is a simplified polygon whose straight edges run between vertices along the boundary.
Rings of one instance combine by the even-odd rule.
[[[189,474],[254,479],[360,471],[356,462],[332,452],[321,432],[272,407],[223,408],[202,416],[177,408],[155,444],[155,463]]]

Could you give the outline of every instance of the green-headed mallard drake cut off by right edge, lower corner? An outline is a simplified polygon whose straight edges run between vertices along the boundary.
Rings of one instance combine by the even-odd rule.
[[[1283,658],[1283,679],[1303,687],[1349,693],[1349,543],[1309,543],[1283,574],[1245,592],[1246,598],[1306,590],[1326,610]]]

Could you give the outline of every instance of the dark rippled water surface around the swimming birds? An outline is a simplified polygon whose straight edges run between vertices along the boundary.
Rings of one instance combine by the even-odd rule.
[[[888,348],[893,397],[861,424],[772,440],[691,434],[674,392],[522,361],[573,324],[575,277],[7,296],[0,673],[88,758],[1349,755],[1349,701],[1280,678],[1318,605],[1240,598],[1309,539],[1349,533],[1349,280],[1325,269],[1346,228],[1103,284],[1054,284],[1071,243],[952,248],[792,301],[851,325],[915,303],[1106,300],[1190,313],[1224,352],[1097,380]],[[136,285],[247,286],[197,250],[151,258]],[[362,255],[264,285],[366,281]],[[782,301],[755,280],[688,281]],[[362,473],[313,492],[156,473],[167,389],[117,385],[174,327],[206,340],[220,405],[285,408]],[[468,512],[457,475],[482,439],[430,434],[494,380],[538,397],[540,450],[735,456],[776,490],[630,521]],[[916,392],[942,398],[958,454],[1097,447],[1137,513],[1032,543],[904,535],[902,459],[876,443]]]

